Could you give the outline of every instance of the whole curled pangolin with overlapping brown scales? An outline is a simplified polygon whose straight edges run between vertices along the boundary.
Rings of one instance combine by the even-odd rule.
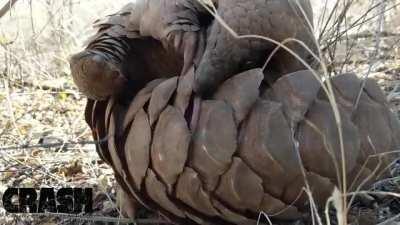
[[[99,141],[98,153],[122,187],[122,211],[134,216],[139,202],[180,224],[256,224],[261,211],[294,220],[309,210],[306,184],[323,207],[343,177],[337,173],[337,123],[321,84],[284,53],[272,68],[257,69],[273,45],[238,43],[215,33],[220,25],[195,1],[170,2],[177,4],[129,4],[100,22],[87,49],[71,60],[74,80],[90,98],[85,118]],[[288,9],[287,1],[254,1],[261,4],[257,8],[250,2],[214,3],[222,16],[229,15],[225,19],[243,8],[273,16],[281,10],[292,23],[274,31],[286,37],[295,31],[312,46],[305,21],[294,19],[301,14]],[[255,11],[238,17],[236,28],[250,21],[248,32],[270,34],[271,27],[260,31],[251,22],[261,19]],[[173,19],[160,20],[165,15]],[[286,37],[283,32],[275,38]],[[265,49],[258,56],[235,56],[234,48],[253,45]],[[230,53],[221,46],[230,46]],[[306,51],[292,47],[307,60]],[[212,57],[202,58],[203,52]],[[374,81],[367,80],[357,107],[360,79],[343,74],[330,81],[341,118],[347,189],[368,188],[387,176],[396,155],[382,153],[399,148],[399,123]]]

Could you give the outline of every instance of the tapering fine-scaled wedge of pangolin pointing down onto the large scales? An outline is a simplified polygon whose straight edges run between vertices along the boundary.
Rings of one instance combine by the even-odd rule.
[[[313,12],[309,0],[219,0],[217,13],[238,35],[260,35],[283,42],[298,39],[316,52],[312,30]],[[295,42],[285,44],[307,63],[311,53]],[[196,71],[195,89],[212,93],[222,81],[244,70],[262,67],[277,45],[255,38],[237,39],[220,21],[210,27],[207,47]],[[276,59],[276,60],[274,60]],[[281,49],[267,66],[268,80],[305,66],[288,51]]]

